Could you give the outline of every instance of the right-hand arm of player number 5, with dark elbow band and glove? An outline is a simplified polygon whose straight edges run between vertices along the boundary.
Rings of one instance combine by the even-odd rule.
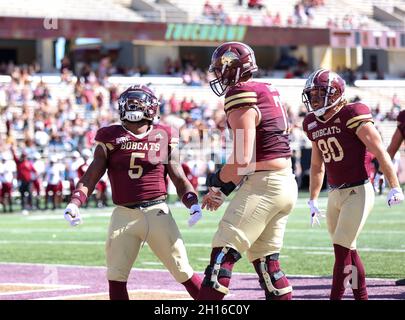
[[[192,184],[187,179],[179,159],[178,148],[172,149],[170,159],[167,164],[167,171],[170,179],[176,187],[177,195],[184,205],[190,210],[190,219],[188,220],[188,225],[191,227],[202,218],[202,211],[200,205],[198,204],[198,196],[195,193]]]

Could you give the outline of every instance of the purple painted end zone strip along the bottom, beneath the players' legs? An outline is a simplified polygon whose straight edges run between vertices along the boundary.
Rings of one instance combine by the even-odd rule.
[[[41,264],[0,263],[0,300],[58,299],[105,300],[108,287],[103,267],[78,267]],[[293,298],[328,299],[329,277],[290,276]],[[395,280],[367,279],[370,299],[405,299],[405,287],[395,286]],[[190,299],[183,286],[167,271],[134,269],[128,282],[131,299]],[[228,300],[263,300],[255,274],[234,274]],[[346,290],[346,299],[352,299]]]

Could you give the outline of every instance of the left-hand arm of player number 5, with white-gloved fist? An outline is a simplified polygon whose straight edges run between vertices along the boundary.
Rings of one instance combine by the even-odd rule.
[[[67,205],[64,216],[72,226],[82,222],[79,208],[85,204],[87,197],[91,195],[97,182],[101,179],[107,169],[107,158],[101,145],[96,147],[94,158],[83,177],[77,183],[72,193],[70,203]]]

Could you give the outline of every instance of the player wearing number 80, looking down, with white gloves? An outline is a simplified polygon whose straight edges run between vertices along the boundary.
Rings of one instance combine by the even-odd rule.
[[[326,171],[330,187],[326,218],[335,253],[330,299],[342,299],[345,279],[351,276],[354,298],[366,300],[365,269],[356,250],[357,237],[374,205],[366,148],[377,158],[391,187],[387,204],[400,203],[404,195],[369,107],[347,103],[344,93],[344,80],[325,69],[309,76],[302,93],[308,110],[303,129],[312,142],[308,205],[311,224],[319,223],[317,199]]]

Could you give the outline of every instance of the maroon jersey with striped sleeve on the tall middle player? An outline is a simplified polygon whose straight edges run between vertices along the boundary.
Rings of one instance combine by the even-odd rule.
[[[260,122],[256,126],[256,161],[291,157],[289,122],[280,94],[271,84],[255,81],[239,83],[225,95],[225,112],[254,107]]]

